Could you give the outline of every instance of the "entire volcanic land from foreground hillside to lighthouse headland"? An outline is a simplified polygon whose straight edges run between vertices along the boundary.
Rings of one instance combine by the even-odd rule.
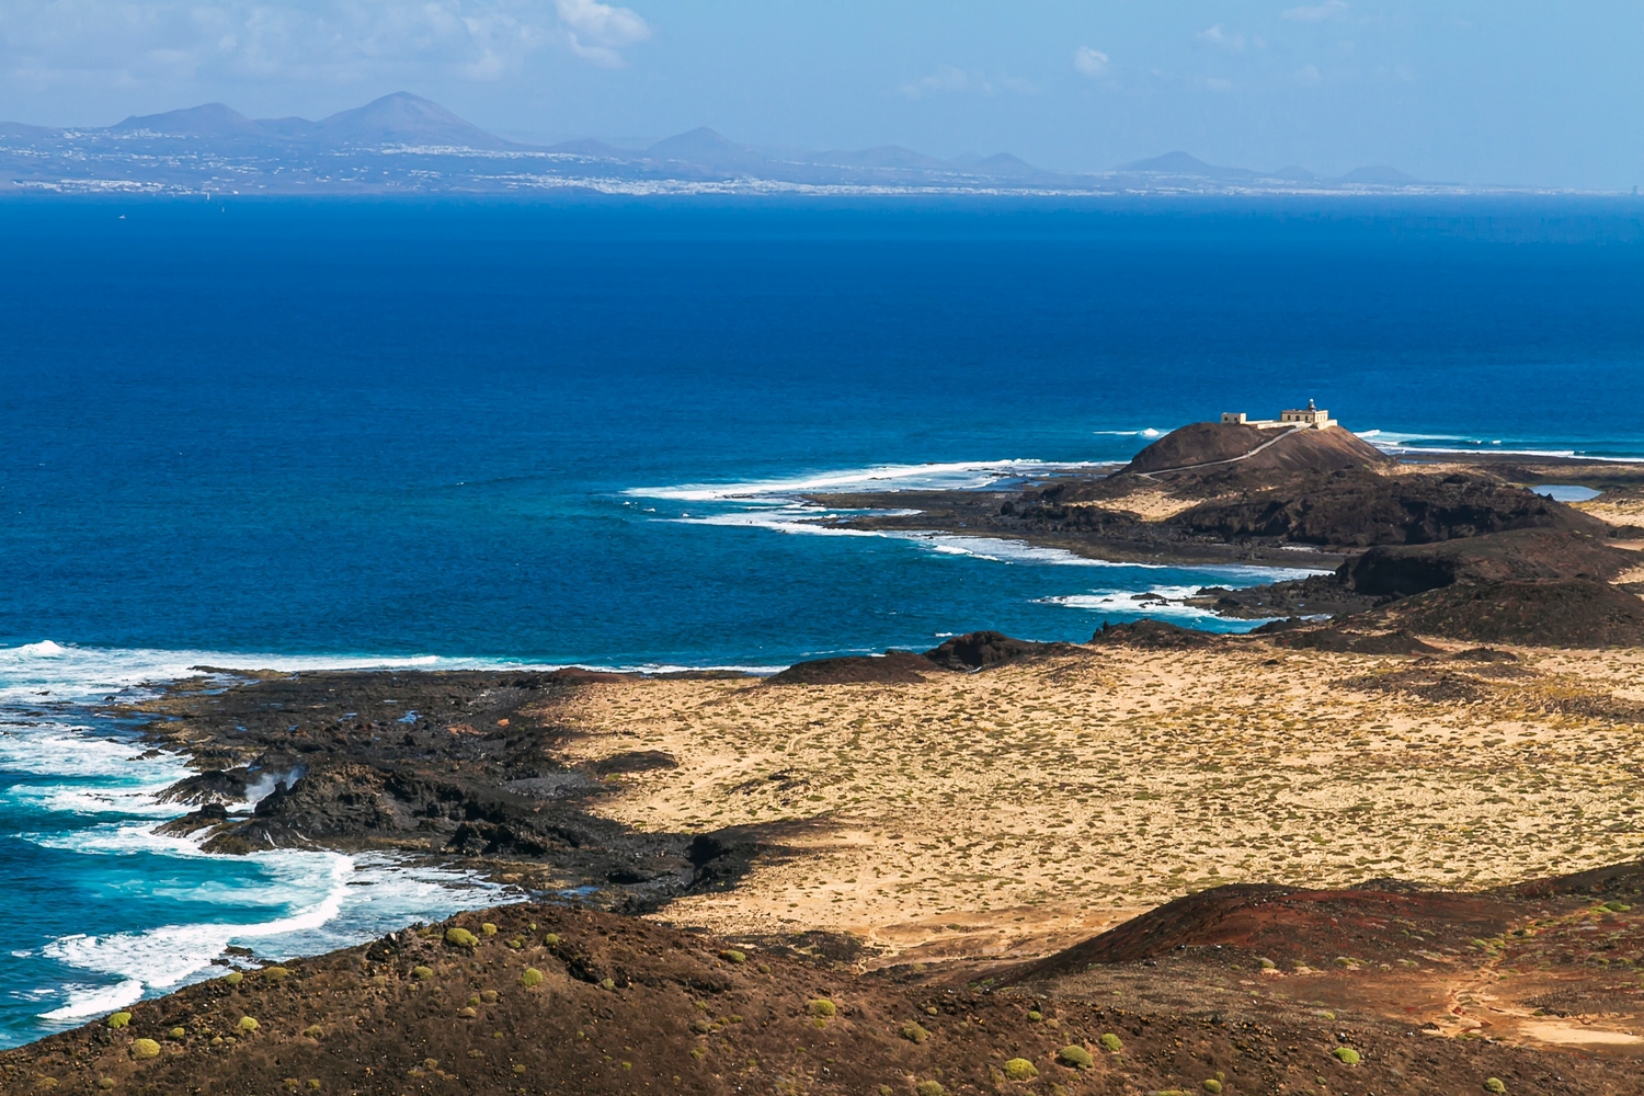
[[[1529,490],[1577,473],[1586,509]],[[161,830],[526,900],[224,958],[0,1055],[0,1088],[1644,1091],[1631,475],[1202,424],[850,521],[1332,562],[1198,593],[1284,618],[1249,634],[983,631],[769,679],[201,667],[112,707],[196,769]]]

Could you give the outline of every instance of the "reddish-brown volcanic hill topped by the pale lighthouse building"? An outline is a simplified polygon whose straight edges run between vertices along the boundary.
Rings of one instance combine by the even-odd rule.
[[[1192,422],[1136,454],[1116,475],[1194,475],[1228,468],[1253,473],[1337,472],[1391,462],[1392,457],[1338,426],[1261,431],[1233,422]]]

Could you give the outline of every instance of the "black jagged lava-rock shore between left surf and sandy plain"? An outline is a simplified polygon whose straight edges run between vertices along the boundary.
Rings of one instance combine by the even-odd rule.
[[[118,708],[199,769],[159,827],[209,853],[321,846],[460,866],[538,896],[640,914],[735,882],[773,835],[641,833],[587,805],[671,766],[636,751],[566,764],[556,700],[584,670],[212,670]]]

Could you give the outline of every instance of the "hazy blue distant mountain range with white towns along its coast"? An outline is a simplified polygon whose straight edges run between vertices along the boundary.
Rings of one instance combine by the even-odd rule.
[[[319,122],[248,118],[222,104],[102,128],[0,123],[0,196],[155,194],[1432,194],[1394,168],[1325,179],[1167,153],[1095,174],[1009,154],[937,159],[898,145],[794,151],[700,128],[648,148],[520,145],[398,92]]]

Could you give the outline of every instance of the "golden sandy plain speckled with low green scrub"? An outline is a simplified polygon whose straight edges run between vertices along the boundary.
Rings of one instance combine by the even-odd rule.
[[[613,818],[819,820],[669,920],[1031,951],[1218,882],[1483,887],[1639,856],[1644,652],[1519,654],[1105,649],[909,685],[593,685],[554,715],[585,759],[679,759]]]

